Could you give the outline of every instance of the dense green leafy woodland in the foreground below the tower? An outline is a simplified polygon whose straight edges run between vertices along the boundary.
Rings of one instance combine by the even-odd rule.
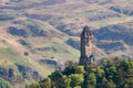
[[[84,66],[69,62],[63,70],[27,88],[133,88],[133,61],[115,57]]]

